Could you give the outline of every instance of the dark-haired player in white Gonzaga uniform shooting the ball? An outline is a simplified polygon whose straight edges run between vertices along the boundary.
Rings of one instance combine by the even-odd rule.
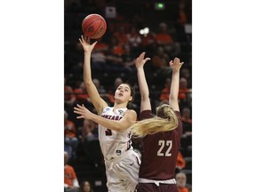
[[[138,184],[140,158],[132,148],[131,127],[137,120],[134,110],[127,105],[134,99],[135,92],[129,84],[120,84],[115,92],[114,107],[108,107],[100,98],[92,83],[91,54],[97,44],[90,39],[79,38],[84,48],[84,84],[94,108],[99,116],[87,108],[77,105],[74,112],[77,118],[91,119],[99,124],[100,148],[104,156],[109,192],[133,192]]]

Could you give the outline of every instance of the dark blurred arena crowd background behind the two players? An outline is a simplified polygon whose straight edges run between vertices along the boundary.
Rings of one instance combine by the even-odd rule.
[[[65,148],[72,149],[68,164],[74,167],[79,183],[89,180],[94,191],[107,191],[97,124],[77,120],[73,113],[76,103],[93,110],[84,91],[84,53],[78,38],[84,17],[98,13],[108,28],[92,52],[92,78],[110,105],[115,86],[128,81],[136,89],[132,108],[139,114],[140,93],[133,60],[140,52],[151,58],[145,71],[152,108],[169,94],[165,88],[172,76],[165,68],[169,61],[174,57],[184,61],[179,93],[184,132],[177,172],[186,173],[187,186],[192,191],[192,0],[65,0],[64,5],[65,126],[76,130],[76,144],[66,142]],[[133,140],[133,148],[140,151],[138,140]]]

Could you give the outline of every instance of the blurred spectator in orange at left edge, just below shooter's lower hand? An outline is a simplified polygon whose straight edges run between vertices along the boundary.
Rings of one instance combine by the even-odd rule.
[[[67,111],[64,111],[64,137],[65,144],[72,148],[72,154],[68,154],[72,159],[76,158],[76,148],[78,139],[76,138],[76,125],[68,119]]]

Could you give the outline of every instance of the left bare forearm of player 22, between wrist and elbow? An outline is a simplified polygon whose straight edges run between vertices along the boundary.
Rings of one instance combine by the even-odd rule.
[[[148,90],[148,84],[144,72],[144,68],[137,68],[137,75],[138,75],[138,81],[139,81],[139,87],[140,87],[140,97],[141,100],[144,100],[145,98],[149,97],[149,90]]]

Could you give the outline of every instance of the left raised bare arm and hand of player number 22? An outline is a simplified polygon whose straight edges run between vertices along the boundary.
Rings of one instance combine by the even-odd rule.
[[[150,60],[145,57],[145,52],[142,52],[140,56],[135,60],[135,66],[137,68],[137,76],[140,87],[140,112],[143,110],[151,110],[151,104],[149,99],[148,84],[144,72],[144,64]]]

